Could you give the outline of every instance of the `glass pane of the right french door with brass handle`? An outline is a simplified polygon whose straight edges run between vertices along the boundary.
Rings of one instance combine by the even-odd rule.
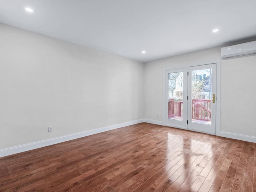
[[[212,69],[192,70],[191,122],[211,125]]]

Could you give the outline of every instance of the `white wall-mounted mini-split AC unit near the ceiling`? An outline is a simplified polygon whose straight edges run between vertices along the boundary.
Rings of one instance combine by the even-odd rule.
[[[221,48],[221,58],[227,59],[256,54],[256,41]]]

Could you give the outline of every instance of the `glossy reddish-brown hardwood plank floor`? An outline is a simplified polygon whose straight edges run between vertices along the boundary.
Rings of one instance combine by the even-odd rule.
[[[1,192],[256,192],[255,143],[148,123],[0,158]]]

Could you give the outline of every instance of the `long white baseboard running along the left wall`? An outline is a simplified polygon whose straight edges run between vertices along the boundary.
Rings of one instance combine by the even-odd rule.
[[[20,152],[24,152],[24,151],[28,151],[28,150],[33,150],[33,149],[37,149],[37,148],[65,142],[65,141],[70,141],[73,139],[78,139],[81,137],[85,137],[85,136],[89,136],[89,135],[93,135],[93,134],[129,126],[129,125],[134,125],[134,124],[138,124],[138,123],[142,123],[142,122],[144,122],[144,119],[124,122],[124,123],[120,123],[120,124],[116,124],[116,125],[112,125],[112,126],[106,126],[106,127],[102,127],[102,128],[98,128],[98,129],[94,129],[94,130],[88,130],[88,131],[74,133],[74,134],[56,137],[56,138],[52,138],[52,139],[28,143],[28,144],[24,144],[24,145],[20,145],[20,146],[14,146],[14,147],[6,148],[6,149],[1,149],[0,157],[4,157],[4,156],[16,154],[16,153],[20,153]]]

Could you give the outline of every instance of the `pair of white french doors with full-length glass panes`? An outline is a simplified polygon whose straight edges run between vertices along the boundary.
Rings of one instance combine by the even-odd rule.
[[[166,126],[216,133],[216,64],[167,70]]]

